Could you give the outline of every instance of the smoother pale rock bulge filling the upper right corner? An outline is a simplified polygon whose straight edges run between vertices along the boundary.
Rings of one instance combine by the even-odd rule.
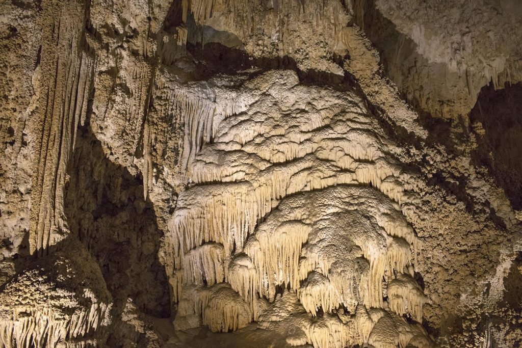
[[[444,118],[467,119],[480,89],[522,80],[518,1],[355,1],[354,20],[384,68],[413,105]]]

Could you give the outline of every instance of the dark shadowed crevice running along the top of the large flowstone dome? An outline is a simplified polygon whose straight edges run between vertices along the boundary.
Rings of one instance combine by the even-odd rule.
[[[373,2],[370,2],[371,4],[367,5],[366,3],[363,3],[362,0],[352,0],[352,2],[359,3],[359,7],[361,8],[373,5]],[[327,73],[326,71],[317,69],[307,69],[306,71],[300,70],[295,60],[288,55],[271,57],[251,56],[245,52],[243,43],[234,33],[219,31],[212,27],[201,25],[195,21],[193,14],[190,11],[187,13],[187,18],[184,22],[182,11],[183,9],[180,2],[174,2],[171,4],[168,15],[165,17],[163,22],[162,29],[165,32],[176,35],[176,28],[178,27],[187,30],[186,51],[189,55],[192,55],[192,57],[195,58],[195,80],[206,80],[217,74],[235,75],[240,71],[243,75],[247,73],[248,78],[252,79],[268,70],[290,69],[298,75],[300,83],[303,85],[327,87],[341,92],[353,91],[362,99],[366,109],[371,115],[375,116],[377,122],[381,125],[387,135],[393,136],[397,142],[401,144],[414,146],[420,144],[421,139],[418,139],[413,133],[401,126],[390,124],[385,117],[383,117],[386,114],[384,110],[367,99],[365,93],[360,88],[358,81],[343,68],[344,62],[349,59],[349,53],[344,56],[334,54],[334,56],[331,57],[331,61],[342,68],[344,71],[343,75]],[[354,16],[356,20],[351,22],[350,25],[358,22],[358,15],[359,13],[356,11]],[[367,16],[366,12],[364,12],[363,15]],[[382,19],[388,21],[384,17]],[[393,23],[390,25],[393,25]],[[414,44],[413,41],[411,41],[411,43]],[[170,54],[172,54],[172,52]],[[385,64],[385,62],[382,63]],[[172,65],[173,62],[166,64],[166,66]],[[406,98],[404,99],[406,101]],[[414,103],[414,100],[409,101],[408,104],[411,105],[412,103]],[[442,121],[440,118],[431,117],[429,113],[422,112],[420,109],[419,111],[421,111],[420,123],[430,130],[426,141],[431,143],[441,143],[441,141],[437,139],[443,139],[444,146],[453,150],[454,146],[449,137],[444,136],[437,138],[440,134],[448,134],[450,127],[447,122]]]

